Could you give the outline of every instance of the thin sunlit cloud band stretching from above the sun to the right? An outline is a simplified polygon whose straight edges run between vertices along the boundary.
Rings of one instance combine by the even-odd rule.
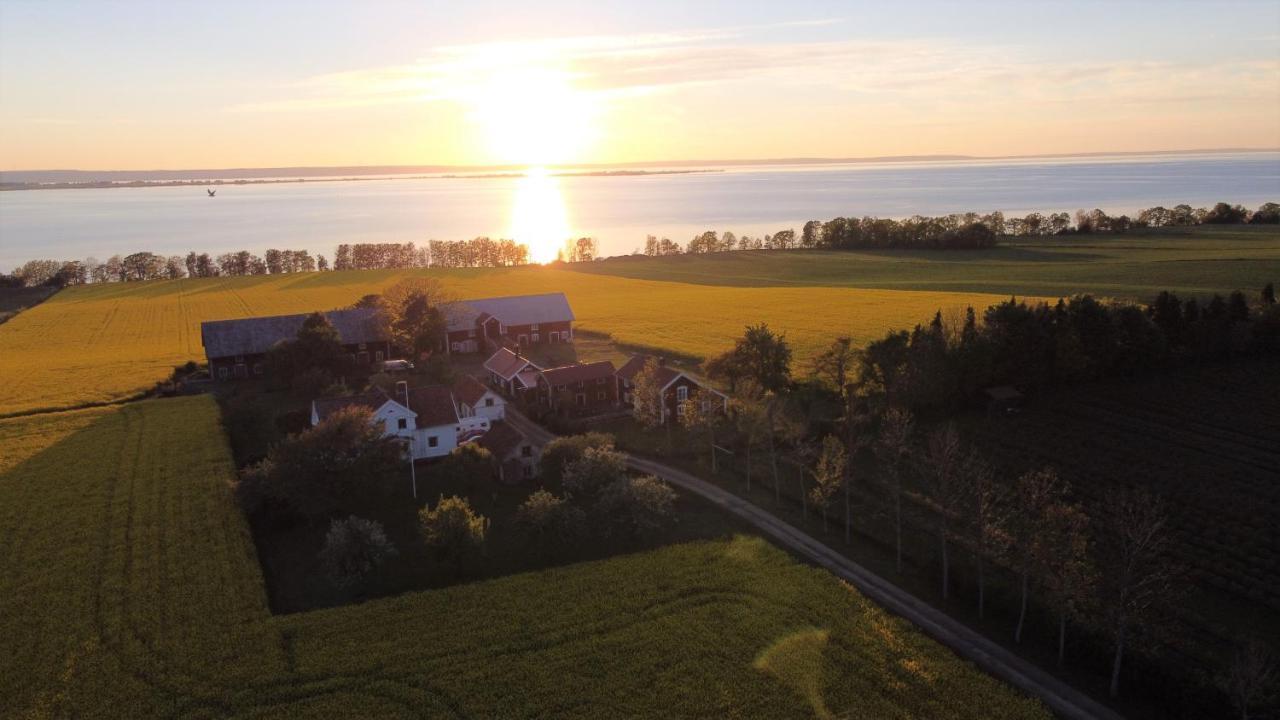
[[[804,20],[831,24],[837,20]],[[860,104],[980,111],[991,104],[1170,105],[1275,97],[1280,60],[1053,63],[1016,45],[937,40],[772,41],[783,26],[451,45],[410,64],[311,77],[233,108],[288,111],[466,102],[494,76],[541,68],[603,101],[698,86],[813,87]]]

